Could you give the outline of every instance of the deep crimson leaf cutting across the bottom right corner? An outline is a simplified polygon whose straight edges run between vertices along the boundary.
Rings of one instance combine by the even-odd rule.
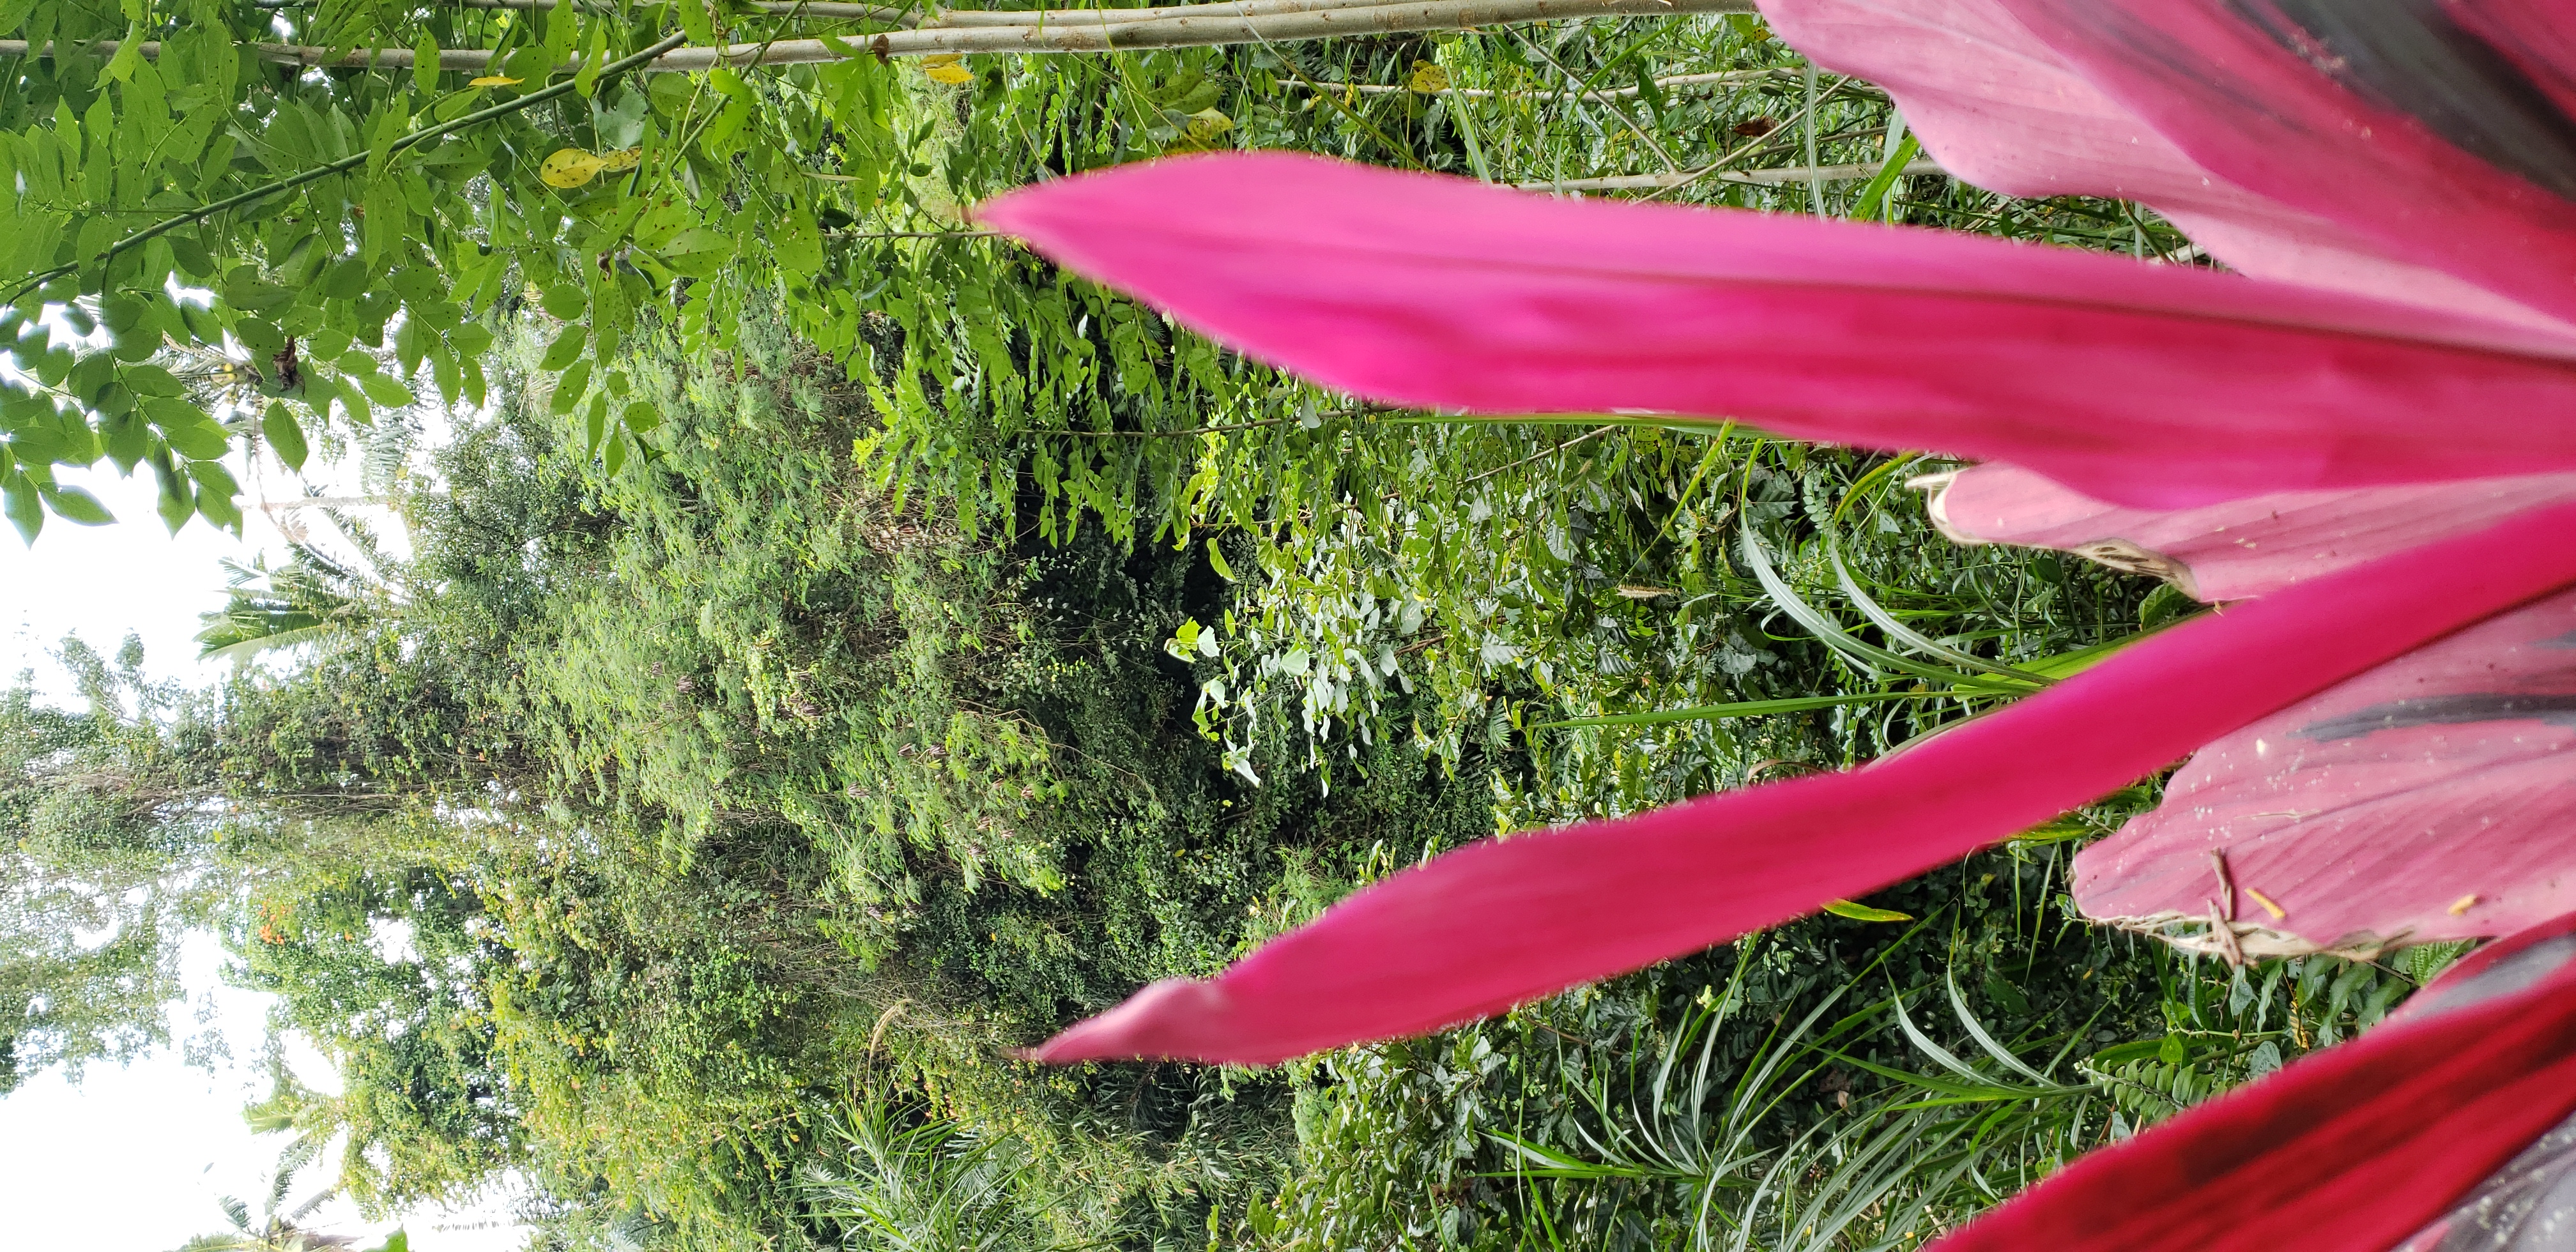
[[[2483,976],[2445,979],[2442,1005],[2092,1152],[1932,1247],[2530,1247],[2486,1242],[2543,1234],[2517,1231],[2486,1188],[2499,1177],[2545,1185],[2563,1170],[2545,1136],[2563,1133],[2576,1110],[2571,953],[2576,943],[2548,938]],[[2524,1154],[2535,1139],[2537,1162]]]

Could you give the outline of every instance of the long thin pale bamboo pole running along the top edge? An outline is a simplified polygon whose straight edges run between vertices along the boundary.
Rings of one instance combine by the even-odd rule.
[[[1252,0],[1262,3],[1262,0]],[[1278,0],[1273,0],[1278,3]],[[1285,0],[1306,3],[1306,0]],[[940,52],[1131,52],[1131,49],[1190,49],[1208,44],[1288,44],[1298,39],[1334,39],[1360,33],[1401,31],[1463,31],[1473,26],[1507,26],[1522,21],[1584,21],[1584,18],[1667,18],[1685,13],[1752,13],[1752,0],[1414,0],[1394,5],[1324,5],[1285,13],[1229,13],[1234,5],[1172,5],[1126,13],[1149,13],[1133,21],[1082,21],[1069,13],[1051,13],[1046,21],[1015,21],[1007,26],[920,26],[912,31],[886,31],[850,39],[773,39],[762,44],[683,46],[644,64],[644,72],[693,72],[716,64],[811,64],[837,62],[853,54],[925,57]],[[116,41],[90,44],[100,57],[116,54]],[[317,70],[410,70],[412,49],[361,49],[335,52],[307,44],[252,44],[252,57],[273,64],[304,64]],[[0,57],[52,57],[52,44],[28,49],[26,39],[0,39]],[[160,44],[147,41],[144,57],[160,57]],[[492,70],[487,49],[446,49],[438,70],[479,75]],[[556,72],[577,72],[580,62],[567,62]]]

